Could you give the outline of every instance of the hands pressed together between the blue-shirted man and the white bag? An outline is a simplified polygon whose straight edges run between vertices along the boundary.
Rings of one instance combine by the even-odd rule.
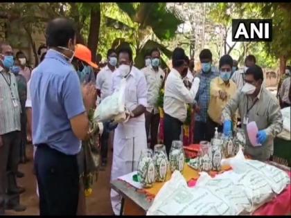
[[[87,111],[95,107],[97,96],[96,96],[96,88],[94,84],[91,84],[90,82],[87,84],[83,83],[82,96],[83,96],[84,105]]]

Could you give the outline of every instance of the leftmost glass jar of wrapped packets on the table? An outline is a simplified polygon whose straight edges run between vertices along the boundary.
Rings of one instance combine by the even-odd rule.
[[[155,163],[152,159],[152,149],[141,151],[137,176],[143,188],[150,188],[155,182]]]

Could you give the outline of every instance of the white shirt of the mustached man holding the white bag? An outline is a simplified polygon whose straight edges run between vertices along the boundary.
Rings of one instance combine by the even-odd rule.
[[[118,89],[122,78],[121,72],[116,69],[112,75],[112,93]],[[143,72],[135,66],[132,66],[132,71],[126,80],[125,107],[130,111],[136,109],[139,105],[147,107],[147,93],[148,91]],[[145,122],[144,113],[136,118],[130,118],[126,123],[130,124],[134,122]]]

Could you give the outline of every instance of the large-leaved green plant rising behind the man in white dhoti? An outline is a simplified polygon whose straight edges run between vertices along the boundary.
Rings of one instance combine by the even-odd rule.
[[[108,27],[126,31],[129,37],[116,39],[112,47],[118,48],[128,42],[134,48],[134,63],[139,68],[143,66],[143,56],[150,48],[159,48],[167,57],[172,55],[161,41],[172,39],[182,21],[166,9],[166,3],[116,4],[129,19],[121,21],[118,18],[107,17],[106,24]],[[128,38],[130,40],[126,40]]]

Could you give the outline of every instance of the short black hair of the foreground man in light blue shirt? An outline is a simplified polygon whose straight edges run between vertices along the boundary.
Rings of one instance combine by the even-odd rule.
[[[67,47],[69,39],[75,39],[76,28],[73,21],[66,18],[56,18],[46,27],[46,44],[48,47]]]

